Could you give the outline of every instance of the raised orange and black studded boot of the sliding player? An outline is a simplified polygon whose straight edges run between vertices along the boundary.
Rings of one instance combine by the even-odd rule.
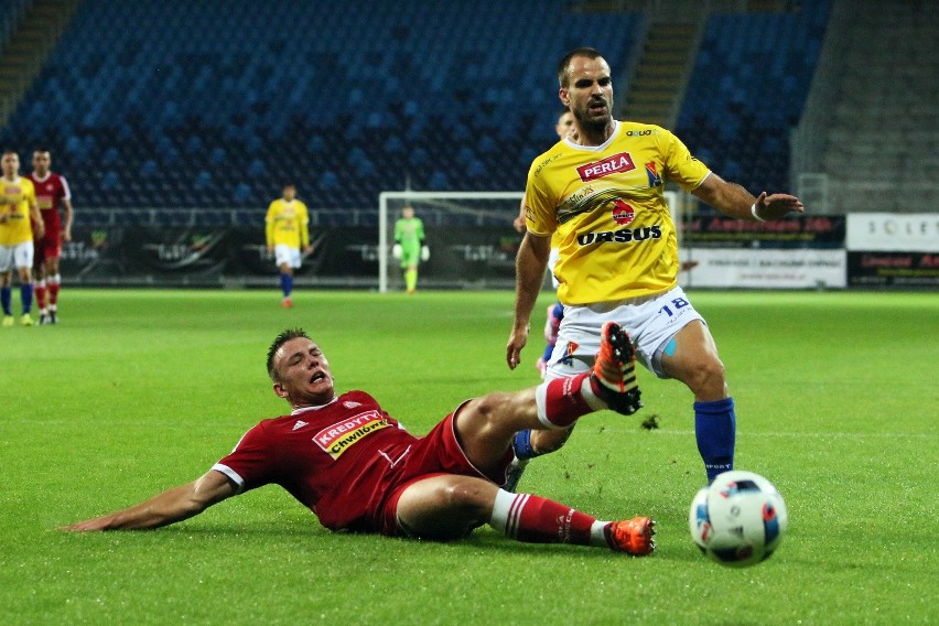
[[[606,322],[600,332],[600,353],[591,380],[597,396],[617,413],[632,415],[643,408],[636,381],[636,350],[629,335],[616,322]]]

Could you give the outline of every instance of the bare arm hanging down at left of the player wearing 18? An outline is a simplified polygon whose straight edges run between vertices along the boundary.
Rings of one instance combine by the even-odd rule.
[[[506,346],[506,363],[515,369],[520,363],[521,348],[528,342],[529,322],[538,293],[541,291],[541,280],[544,268],[548,267],[548,255],[551,252],[551,238],[526,233],[515,260],[515,322],[511,335]]]

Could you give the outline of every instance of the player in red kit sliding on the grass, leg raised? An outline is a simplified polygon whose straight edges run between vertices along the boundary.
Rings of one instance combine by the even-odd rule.
[[[463,402],[414,436],[365,391],[337,395],[330,363],[302,330],[268,352],[273,391],[289,415],[263,420],[205,475],[125,510],[64,530],[147,529],[187,519],[268,484],[287,489],[326,528],[432,540],[488,524],[532,543],[568,542],[633,555],[652,552],[648,517],[600,521],[565,505],[499,486],[524,428],[562,429],[582,415],[640,406],[629,337],[611,323],[590,373]]]

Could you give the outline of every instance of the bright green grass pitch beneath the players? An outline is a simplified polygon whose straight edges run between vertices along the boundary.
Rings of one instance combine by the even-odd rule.
[[[301,291],[282,310],[274,291],[65,289],[60,325],[0,328],[0,622],[939,620],[936,293],[691,293],[737,403],[736,465],[789,509],[782,546],[755,568],[691,543],[704,482],[692,398],[645,370],[639,413],[584,418],[520,490],[606,519],[652,515],[651,558],[489,528],[447,544],[332,533],[277,487],[156,531],[56,530],[194,479],[284,412],[263,361],[288,326],[323,346],[339,389],[423,433],[465,398],[539,381],[549,298],[509,371],[509,292]],[[661,428],[643,430],[654,413]]]

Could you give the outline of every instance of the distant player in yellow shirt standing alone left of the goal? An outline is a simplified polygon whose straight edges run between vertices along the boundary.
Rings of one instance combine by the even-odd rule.
[[[284,185],[282,197],[273,201],[265,217],[265,233],[268,253],[274,255],[280,270],[280,289],[283,291],[283,307],[293,306],[290,294],[293,292],[293,270],[300,269],[301,250],[309,255],[310,214],[306,205],[296,199],[296,186]]]

